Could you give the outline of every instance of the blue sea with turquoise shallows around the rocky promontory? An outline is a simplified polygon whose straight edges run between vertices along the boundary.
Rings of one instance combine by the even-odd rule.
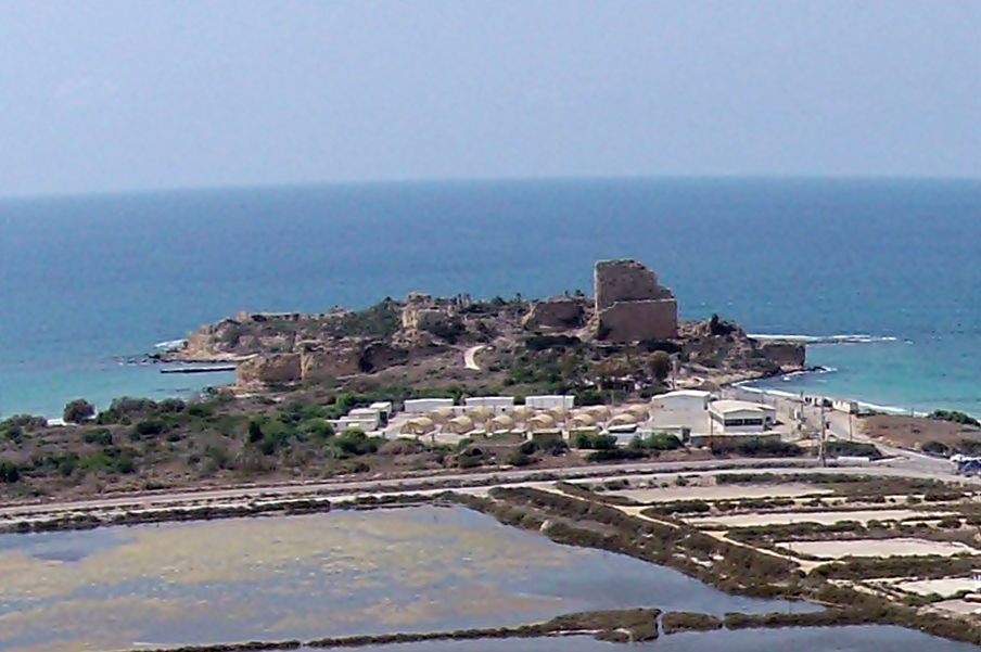
[[[814,345],[770,381],[981,413],[981,181],[622,179],[377,183],[0,200],[0,414],[186,394],[229,374],[122,363],[239,310],[410,291],[589,291],[635,257],[684,318]]]

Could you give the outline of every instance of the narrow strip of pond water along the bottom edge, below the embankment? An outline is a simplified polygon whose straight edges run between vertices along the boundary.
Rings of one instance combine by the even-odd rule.
[[[955,643],[902,627],[815,627],[789,629],[746,629],[662,636],[658,640],[629,647],[603,643],[591,638],[508,639],[480,641],[426,641],[402,645],[374,645],[365,652],[978,652],[979,648]]]

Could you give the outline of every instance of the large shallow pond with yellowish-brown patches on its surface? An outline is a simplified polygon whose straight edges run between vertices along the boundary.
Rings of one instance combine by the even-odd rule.
[[[628,606],[817,609],[436,507],[3,535],[0,577],[0,652],[498,627]]]

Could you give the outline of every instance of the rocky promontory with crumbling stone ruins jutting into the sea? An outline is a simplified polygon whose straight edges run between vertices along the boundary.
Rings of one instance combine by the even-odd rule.
[[[578,370],[570,372],[575,382],[587,384],[598,363],[637,376],[651,369],[652,357],[665,355],[681,376],[759,376],[805,365],[803,344],[757,342],[716,317],[679,322],[672,291],[636,260],[599,261],[594,278],[594,297],[477,301],[413,293],[357,311],[243,312],[189,334],[167,359],[238,362],[238,385],[250,389],[426,365],[432,375],[459,368],[461,351],[476,346],[493,351],[486,360],[490,372],[533,363],[536,353],[558,347],[562,363]],[[629,365],[619,363],[624,360]],[[654,375],[663,381],[663,373]]]

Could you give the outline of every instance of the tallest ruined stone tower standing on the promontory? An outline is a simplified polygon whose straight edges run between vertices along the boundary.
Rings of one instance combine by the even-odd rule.
[[[673,340],[678,304],[637,260],[600,260],[594,271],[597,335],[608,342]]]

